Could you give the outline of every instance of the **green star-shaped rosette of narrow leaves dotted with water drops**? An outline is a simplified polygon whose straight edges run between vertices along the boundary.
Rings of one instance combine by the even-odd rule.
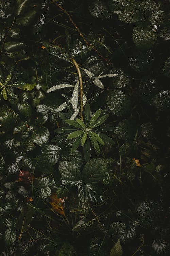
[[[114,144],[114,141],[110,137],[101,132],[110,130],[110,128],[103,126],[103,123],[107,120],[109,115],[101,116],[101,109],[98,109],[92,117],[90,117],[90,113],[90,105],[89,103],[86,103],[84,122],[79,118],[76,120],[66,120],[66,123],[70,126],[54,130],[61,134],[52,139],[53,142],[57,142],[62,139],[76,138],[72,145],[71,152],[77,150],[81,144],[83,147],[84,157],[87,162],[90,160],[91,156],[91,144],[98,154],[100,153],[99,145],[104,146],[105,143]]]

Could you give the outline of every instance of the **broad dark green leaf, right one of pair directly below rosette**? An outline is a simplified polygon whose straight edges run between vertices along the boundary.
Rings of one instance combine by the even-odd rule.
[[[82,171],[82,180],[87,183],[98,183],[108,171],[104,158],[94,158],[87,162]]]

